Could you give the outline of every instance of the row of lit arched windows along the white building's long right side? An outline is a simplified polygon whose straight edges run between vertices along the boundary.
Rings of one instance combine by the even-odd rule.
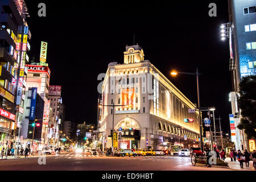
[[[158,123],[158,130],[159,131],[164,131],[164,132],[167,132],[167,133],[171,133],[171,134],[175,134],[175,135],[180,135],[180,136],[184,136],[186,135],[188,138],[192,138],[192,139],[196,139],[197,138],[197,135],[194,134],[194,133],[191,133],[190,131],[187,131],[187,130],[180,130],[180,129],[177,129],[177,127],[174,127],[174,126],[166,126],[166,124],[163,124],[161,122]]]

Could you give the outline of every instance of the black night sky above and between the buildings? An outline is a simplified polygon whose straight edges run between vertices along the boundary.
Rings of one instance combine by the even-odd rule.
[[[135,34],[144,59],[193,103],[197,103],[196,77],[171,77],[170,71],[196,72],[199,67],[201,106],[215,106],[215,116],[223,118],[222,127],[228,132],[229,47],[220,40],[220,24],[228,22],[228,1],[25,2],[32,34],[28,55],[38,62],[40,42],[48,42],[50,84],[62,86],[65,120],[96,123],[97,76],[110,62],[123,63],[125,46],[133,45]],[[40,2],[46,3],[46,17],[38,16]],[[212,2],[217,17],[208,15]]]

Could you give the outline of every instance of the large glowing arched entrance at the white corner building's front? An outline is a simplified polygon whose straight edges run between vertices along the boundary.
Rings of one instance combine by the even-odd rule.
[[[141,140],[141,126],[139,123],[133,118],[123,118],[115,125],[116,130],[121,128],[118,148],[130,150],[138,148],[139,141]]]

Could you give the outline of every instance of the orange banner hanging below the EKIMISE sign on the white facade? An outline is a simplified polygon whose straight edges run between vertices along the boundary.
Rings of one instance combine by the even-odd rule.
[[[122,89],[122,108],[132,108],[134,105],[134,88]]]

